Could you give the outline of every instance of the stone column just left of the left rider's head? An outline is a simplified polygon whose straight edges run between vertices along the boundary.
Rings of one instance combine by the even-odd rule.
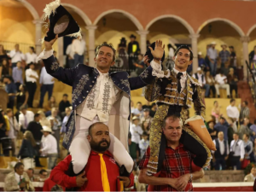
[[[86,26],[86,29],[88,30],[88,35],[89,35],[89,50],[88,50],[88,55],[89,55],[89,66],[90,67],[95,67],[95,30],[97,26],[91,25],[91,26]],[[87,43],[87,42],[86,42]]]

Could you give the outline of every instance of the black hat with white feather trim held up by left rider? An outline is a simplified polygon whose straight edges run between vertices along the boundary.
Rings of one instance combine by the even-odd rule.
[[[49,20],[49,31],[47,37],[44,38],[45,41],[54,39],[57,34],[59,38],[66,35],[76,38],[81,37],[79,25],[67,9],[61,6],[60,0],[47,4],[44,14],[44,19]]]

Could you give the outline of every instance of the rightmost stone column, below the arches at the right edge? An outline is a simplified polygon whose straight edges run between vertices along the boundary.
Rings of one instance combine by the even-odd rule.
[[[242,43],[242,66],[243,66],[243,78],[247,79],[247,64],[246,61],[249,62],[249,50],[248,50],[248,42],[250,38],[248,36],[243,36],[240,38]]]

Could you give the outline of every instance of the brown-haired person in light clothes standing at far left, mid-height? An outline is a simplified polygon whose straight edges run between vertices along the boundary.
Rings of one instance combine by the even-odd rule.
[[[8,137],[12,140],[12,155],[15,156],[16,136],[17,132],[20,131],[20,128],[11,108],[6,109],[6,117],[9,120]]]

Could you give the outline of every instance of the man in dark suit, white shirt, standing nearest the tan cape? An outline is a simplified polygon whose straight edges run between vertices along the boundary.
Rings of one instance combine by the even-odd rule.
[[[226,162],[228,160],[230,150],[229,144],[227,140],[224,140],[224,133],[223,131],[218,132],[218,139],[214,139],[213,143],[216,146],[216,151],[212,151],[213,153],[213,160],[215,161],[215,170],[225,170],[226,169]],[[221,169],[220,169],[221,166]]]

